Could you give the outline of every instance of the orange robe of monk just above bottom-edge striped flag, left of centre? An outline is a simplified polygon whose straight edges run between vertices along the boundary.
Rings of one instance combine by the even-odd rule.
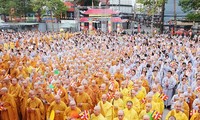
[[[77,105],[82,103],[82,107],[79,107],[82,110],[89,110],[92,107],[92,100],[87,93],[76,94],[75,101]]]

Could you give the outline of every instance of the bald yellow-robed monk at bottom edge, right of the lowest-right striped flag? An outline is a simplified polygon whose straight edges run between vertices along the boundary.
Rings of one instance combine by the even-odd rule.
[[[174,108],[166,115],[166,120],[169,120],[170,117],[175,117],[176,120],[188,120],[188,117],[182,112],[182,106],[179,101],[175,103]]]

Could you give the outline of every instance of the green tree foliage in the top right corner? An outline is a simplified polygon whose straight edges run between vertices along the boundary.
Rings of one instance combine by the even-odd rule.
[[[199,0],[180,0],[179,5],[187,14],[187,19],[192,21],[200,20],[200,2]]]

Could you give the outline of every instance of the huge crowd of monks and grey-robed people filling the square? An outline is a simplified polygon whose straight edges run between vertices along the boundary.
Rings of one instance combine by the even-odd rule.
[[[0,32],[0,120],[200,120],[199,41]]]

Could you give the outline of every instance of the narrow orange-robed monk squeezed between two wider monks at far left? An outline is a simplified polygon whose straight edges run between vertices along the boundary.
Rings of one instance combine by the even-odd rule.
[[[20,93],[20,111],[22,114],[22,120],[26,119],[26,105],[27,105],[27,101],[28,101],[28,95],[29,95],[29,91],[30,91],[30,87],[28,86],[28,81],[29,78],[25,79],[22,82],[22,90]]]

